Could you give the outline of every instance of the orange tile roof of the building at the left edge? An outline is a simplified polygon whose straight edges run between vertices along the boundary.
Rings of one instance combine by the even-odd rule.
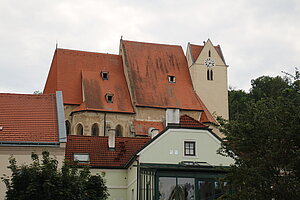
[[[58,142],[55,95],[0,94],[0,141]]]

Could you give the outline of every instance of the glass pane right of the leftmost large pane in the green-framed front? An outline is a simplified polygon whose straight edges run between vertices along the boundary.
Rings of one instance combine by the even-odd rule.
[[[195,199],[195,180],[194,178],[178,178],[178,197],[179,200]]]

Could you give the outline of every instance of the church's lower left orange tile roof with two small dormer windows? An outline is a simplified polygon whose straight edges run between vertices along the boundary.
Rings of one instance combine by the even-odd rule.
[[[102,80],[101,72],[108,72],[108,80]],[[120,55],[57,49],[44,93],[57,90],[63,92],[65,104],[79,105],[85,95],[80,109],[133,112]],[[114,94],[112,104],[106,103],[106,93]]]

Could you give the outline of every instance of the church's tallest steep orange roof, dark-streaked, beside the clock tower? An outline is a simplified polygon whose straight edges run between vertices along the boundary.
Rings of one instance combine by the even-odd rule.
[[[181,46],[121,41],[136,106],[202,110]],[[169,83],[175,76],[176,83]]]

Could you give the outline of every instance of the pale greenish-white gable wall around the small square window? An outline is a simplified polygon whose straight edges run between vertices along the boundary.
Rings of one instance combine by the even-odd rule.
[[[184,155],[184,141],[196,142],[196,156]],[[221,142],[208,130],[169,129],[139,155],[140,163],[178,164],[181,161],[207,162],[213,166],[229,166],[231,158],[217,154]]]

